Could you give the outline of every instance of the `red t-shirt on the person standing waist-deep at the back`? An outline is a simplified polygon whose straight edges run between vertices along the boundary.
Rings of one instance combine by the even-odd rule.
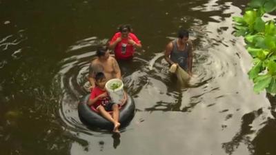
[[[119,37],[121,37],[121,32],[115,33],[114,36],[112,37],[112,39],[110,40],[110,43],[114,43],[114,41],[116,41],[116,39],[119,38]],[[141,42],[141,41],[139,41],[139,39],[133,33],[129,33],[128,38],[135,41],[135,43],[140,43]],[[126,52],[125,53],[122,53],[122,44],[123,43],[126,44]],[[121,41],[119,43],[117,43],[117,45],[115,46],[114,51],[115,51],[115,58],[116,59],[131,59],[133,57],[133,54],[134,54],[134,47],[133,47],[133,45],[128,43],[127,38],[122,38]]]

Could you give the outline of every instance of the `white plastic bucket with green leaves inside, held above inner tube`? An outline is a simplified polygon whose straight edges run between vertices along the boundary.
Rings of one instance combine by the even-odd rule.
[[[112,90],[112,85],[117,84],[115,90]],[[106,90],[113,103],[121,103],[121,99],[124,99],[124,83],[120,79],[111,79],[106,83]]]

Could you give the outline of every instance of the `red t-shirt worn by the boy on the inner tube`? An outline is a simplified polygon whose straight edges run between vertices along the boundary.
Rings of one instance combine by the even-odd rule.
[[[99,87],[94,87],[92,89],[92,92],[90,94],[90,98],[89,99],[95,99],[97,96],[99,96],[100,94],[103,94],[105,93],[106,90],[101,90],[101,88]],[[109,103],[111,103],[111,99],[110,99],[110,96],[104,96],[104,97],[101,97],[99,98],[94,104],[92,104],[91,106],[93,106],[95,109],[97,109],[97,107],[99,105],[103,105],[103,106],[106,106],[108,105]]]

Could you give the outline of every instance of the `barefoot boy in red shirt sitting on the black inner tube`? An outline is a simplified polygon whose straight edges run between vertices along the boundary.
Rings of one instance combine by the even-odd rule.
[[[121,103],[112,103],[110,96],[106,92],[106,76],[103,72],[98,72],[95,75],[95,87],[92,89],[88,105],[95,107],[99,110],[101,116],[106,118],[108,121],[114,124],[113,132],[119,133],[119,104],[123,105],[126,103],[125,99],[121,100]],[[108,113],[112,111],[112,116]]]

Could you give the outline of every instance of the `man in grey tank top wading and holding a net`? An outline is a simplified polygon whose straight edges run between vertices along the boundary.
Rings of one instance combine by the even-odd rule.
[[[177,68],[175,72],[177,78],[181,81],[187,81],[192,76],[192,64],[193,64],[193,43],[189,40],[189,32],[181,29],[178,32],[178,38],[174,41],[170,41],[166,45],[165,59],[166,61]],[[183,70],[179,70],[179,67]],[[182,73],[180,77],[179,72]],[[188,74],[186,74],[188,72]],[[185,77],[183,74],[186,74]]]

